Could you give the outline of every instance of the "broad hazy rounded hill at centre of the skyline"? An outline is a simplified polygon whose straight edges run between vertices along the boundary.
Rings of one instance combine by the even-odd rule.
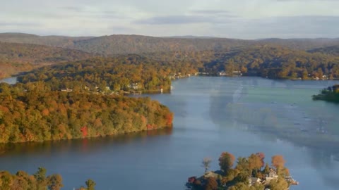
[[[242,39],[201,39],[111,35],[75,42],[74,48],[91,53],[150,53],[165,51],[203,51],[249,46],[253,41]]]

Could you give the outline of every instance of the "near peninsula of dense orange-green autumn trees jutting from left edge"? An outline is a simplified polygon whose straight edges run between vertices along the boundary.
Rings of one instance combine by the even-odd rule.
[[[104,137],[171,127],[169,109],[149,98],[51,91],[42,81],[0,84],[0,143]]]

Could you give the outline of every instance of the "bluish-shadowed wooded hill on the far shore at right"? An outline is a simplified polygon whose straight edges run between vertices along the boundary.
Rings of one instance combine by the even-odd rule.
[[[205,68],[210,72],[225,70],[228,75],[241,71],[244,75],[273,79],[333,79],[339,77],[339,57],[280,46],[254,46],[221,51],[215,54],[214,61],[205,64]]]

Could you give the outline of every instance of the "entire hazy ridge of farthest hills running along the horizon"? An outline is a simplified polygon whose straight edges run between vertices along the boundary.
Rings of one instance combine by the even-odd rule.
[[[0,42],[41,44],[78,49],[106,55],[121,53],[154,53],[167,51],[204,51],[234,49],[253,45],[285,46],[290,49],[311,50],[339,46],[339,39],[227,39],[215,37],[148,37],[140,35],[110,35],[102,37],[37,36],[34,34],[3,33]]]

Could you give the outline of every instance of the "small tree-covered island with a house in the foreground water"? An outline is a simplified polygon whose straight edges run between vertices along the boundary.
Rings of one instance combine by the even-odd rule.
[[[239,157],[233,167],[235,157],[232,153],[223,152],[218,160],[220,170],[208,171],[212,160],[204,158],[202,166],[205,174],[189,177],[186,187],[193,190],[285,190],[298,184],[285,167],[283,156],[273,156],[271,166],[264,159],[264,153],[252,153],[248,158]]]

